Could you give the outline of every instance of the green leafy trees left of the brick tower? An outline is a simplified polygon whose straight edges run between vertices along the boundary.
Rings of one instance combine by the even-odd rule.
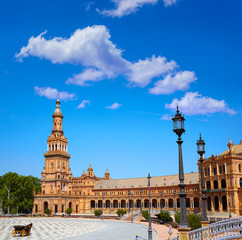
[[[8,172],[0,176],[0,207],[5,213],[32,211],[34,191],[41,191],[41,181],[33,176]]]

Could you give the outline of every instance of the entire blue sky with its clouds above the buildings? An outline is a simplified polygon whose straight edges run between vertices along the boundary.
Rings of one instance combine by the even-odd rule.
[[[40,177],[60,92],[74,176],[185,172],[242,139],[240,0],[2,1],[0,174]]]

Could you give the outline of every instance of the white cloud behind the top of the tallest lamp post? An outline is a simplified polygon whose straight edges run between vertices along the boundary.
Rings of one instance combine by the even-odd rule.
[[[187,92],[180,100],[175,98],[171,104],[166,104],[165,107],[174,111],[177,105],[181,112],[187,115],[208,115],[216,112],[236,114],[224,100],[219,101],[210,97],[203,97],[198,92]]]

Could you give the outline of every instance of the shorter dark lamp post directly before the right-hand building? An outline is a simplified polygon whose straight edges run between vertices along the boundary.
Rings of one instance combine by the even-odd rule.
[[[200,134],[200,138],[197,141],[197,153],[200,155],[200,166],[201,166],[201,192],[202,192],[202,221],[208,221],[208,217],[207,217],[207,197],[205,195],[206,191],[205,191],[205,180],[204,180],[204,169],[203,169],[203,155],[205,153],[205,142],[204,140],[202,140],[201,134]]]

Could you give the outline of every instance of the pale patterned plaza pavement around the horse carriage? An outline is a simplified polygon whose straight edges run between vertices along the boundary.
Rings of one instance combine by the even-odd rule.
[[[147,226],[122,221],[101,221],[67,218],[2,218],[0,219],[0,240],[22,239],[12,237],[14,225],[33,223],[31,235],[25,239],[65,240],[135,240],[147,239]],[[158,240],[153,232],[153,239]]]

